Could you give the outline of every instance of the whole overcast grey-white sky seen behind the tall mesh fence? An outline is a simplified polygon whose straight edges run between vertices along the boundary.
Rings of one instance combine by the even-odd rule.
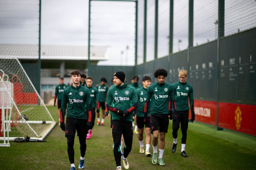
[[[38,0],[0,0],[0,43],[38,44]],[[88,45],[88,0],[42,0],[41,44]],[[143,61],[139,0],[138,60]],[[168,54],[169,0],[159,0],[158,57]],[[216,38],[217,0],[194,0],[194,46]],[[255,0],[225,0],[225,36],[256,26]],[[154,59],[154,0],[147,1],[147,61]],[[140,17],[140,15],[139,15]],[[173,52],[188,45],[188,1],[174,0]],[[91,46],[109,46],[99,65],[134,65],[135,3],[91,1]],[[139,63],[140,64],[140,63]]]

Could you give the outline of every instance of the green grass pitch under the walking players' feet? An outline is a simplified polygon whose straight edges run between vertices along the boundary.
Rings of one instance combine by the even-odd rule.
[[[47,106],[53,118],[58,121],[58,109]],[[97,121],[97,120],[96,120]],[[204,123],[189,123],[186,153],[181,156],[181,131],[175,153],[171,152],[173,143],[172,123],[166,134],[163,161],[165,166],[153,165],[151,157],[139,153],[138,135],[133,135],[133,146],[128,156],[131,170],[147,169],[255,169],[256,137],[229,130],[217,131],[215,126]],[[67,154],[67,139],[58,125],[44,139],[46,142],[10,142],[10,147],[0,147],[1,169],[70,169]],[[2,142],[2,141],[0,141]],[[116,169],[113,155],[113,139],[110,118],[104,126],[93,128],[93,137],[87,142],[85,169]],[[75,138],[75,166],[78,169],[80,150],[78,137]],[[152,143],[150,152],[153,153]],[[122,162],[121,162],[122,164]],[[123,164],[122,164],[122,168]]]

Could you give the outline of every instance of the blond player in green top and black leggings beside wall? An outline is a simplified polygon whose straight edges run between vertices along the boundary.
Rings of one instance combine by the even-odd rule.
[[[177,135],[181,124],[181,156],[187,157],[185,152],[186,140],[187,140],[187,128],[188,128],[188,112],[190,104],[191,111],[191,122],[195,120],[194,112],[194,96],[193,87],[186,82],[188,75],[186,70],[180,70],[179,72],[180,81],[173,84],[174,97],[175,97],[175,108],[172,116],[172,137],[173,146],[172,152],[176,151],[177,146]]]

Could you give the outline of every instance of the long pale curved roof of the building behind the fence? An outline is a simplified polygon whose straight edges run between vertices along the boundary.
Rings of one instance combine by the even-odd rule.
[[[1,57],[38,59],[39,45],[0,44]],[[91,46],[90,60],[108,60],[109,47]],[[41,45],[41,60],[88,60],[88,46]]]

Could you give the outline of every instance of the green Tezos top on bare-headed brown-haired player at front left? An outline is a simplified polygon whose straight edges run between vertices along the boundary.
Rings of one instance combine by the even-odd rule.
[[[90,91],[88,88],[80,85],[76,88],[68,86],[63,91],[61,109],[66,111],[67,108],[67,117],[75,119],[87,119],[87,111],[91,103]]]

